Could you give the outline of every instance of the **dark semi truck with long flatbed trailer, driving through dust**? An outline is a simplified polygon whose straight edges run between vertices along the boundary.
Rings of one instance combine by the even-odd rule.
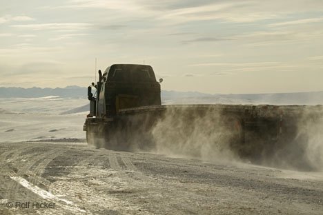
[[[88,87],[88,145],[153,150],[160,143],[171,149],[178,141],[180,150],[187,150],[196,145],[190,144],[195,138],[209,147],[221,142],[239,158],[259,161],[291,148],[304,151],[300,142],[309,136],[300,135],[300,123],[323,115],[322,105],[163,105],[162,81],[150,65],[113,64],[103,74],[99,70],[99,81]],[[190,153],[199,153],[197,147]]]

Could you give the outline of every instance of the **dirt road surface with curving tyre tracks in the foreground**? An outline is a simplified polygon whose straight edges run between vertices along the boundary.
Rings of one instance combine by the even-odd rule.
[[[0,214],[323,214],[322,173],[0,143]]]

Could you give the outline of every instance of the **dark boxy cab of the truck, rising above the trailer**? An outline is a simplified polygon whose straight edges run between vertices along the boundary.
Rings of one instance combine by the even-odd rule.
[[[97,83],[96,116],[115,116],[120,109],[161,105],[160,84],[150,65],[113,64]]]

